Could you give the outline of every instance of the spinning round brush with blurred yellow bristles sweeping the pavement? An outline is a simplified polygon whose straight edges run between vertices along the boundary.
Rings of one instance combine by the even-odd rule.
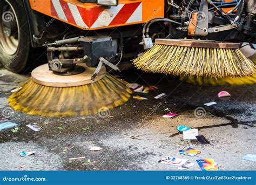
[[[41,66],[42,67],[42,66]],[[48,70],[48,65],[44,66]],[[88,71],[88,68],[86,68]],[[35,69],[32,78],[21,85],[21,90],[9,97],[9,105],[16,111],[27,114],[41,115],[45,117],[68,117],[87,114],[105,114],[108,109],[124,104],[130,98],[131,91],[126,87],[127,83],[110,74],[99,74],[95,82],[89,74],[75,76],[56,76],[45,80],[48,75],[55,76],[48,70],[44,78]],[[50,74],[51,73],[51,74]],[[88,77],[86,79],[86,77]],[[71,86],[70,79],[81,78],[84,85]],[[58,79],[65,81],[61,84]],[[58,83],[55,83],[58,81]],[[86,81],[87,80],[87,81]],[[51,84],[52,83],[52,84]],[[80,81],[79,81],[80,83]],[[46,86],[47,84],[51,86]],[[67,86],[68,84],[68,86]],[[65,85],[66,87],[61,87]]]

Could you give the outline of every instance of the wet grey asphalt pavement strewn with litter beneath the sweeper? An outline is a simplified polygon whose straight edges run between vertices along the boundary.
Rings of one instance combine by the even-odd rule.
[[[0,70],[0,111],[8,110],[10,90],[27,77],[29,74],[21,76]],[[0,132],[0,170],[178,170],[158,163],[164,156],[193,163],[197,159],[212,158],[221,170],[256,169],[255,162],[242,160],[244,155],[256,153],[255,84],[198,86],[175,77],[136,70],[123,72],[123,78],[159,89],[147,94],[146,101],[130,99],[125,105],[111,109],[105,118],[102,115],[44,118],[14,112],[9,121],[22,129],[16,133],[11,129]],[[232,97],[219,99],[220,91],[228,91]],[[169,97],[154,99],[160,93]],[[204,106],[211,101],[217,104]],[[203,108],[201,118],[195,114],[198,107]],[[168,112],[166,108],[179,116],[163,118]],[[26,127],[34,122],[42,131]],[[204,135],[211,144],[183,140],[183,134],[176,129],[178,125],[198,128],[199,135]],[[130,136],[138,137],[131,139]],[[103,150],[91,152],[91,146]],[[179,154],[178,150],[186,147],[197,148],[201,153],[194,157]],[[35,150],[36,154],[21,157],[21,150]],[[73,157],[85,158],[69,160]],[[200,168],[196,164],[190,170]]]

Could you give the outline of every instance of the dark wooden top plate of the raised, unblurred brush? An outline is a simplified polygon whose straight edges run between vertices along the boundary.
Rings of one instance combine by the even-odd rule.
[[[240,43],[212,42],[207,40],[192,40],[192,39],[156,39],[156,44],[184,46],[184,47],[223,48],[223,49],[239,49],[239,45],[240,45]]]

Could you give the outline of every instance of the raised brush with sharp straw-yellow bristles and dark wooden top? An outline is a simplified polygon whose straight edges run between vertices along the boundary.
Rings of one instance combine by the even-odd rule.
[[[134,65],[146,72],[186,76],[243,77],[255,73],[255,65],[238,43],[156,39],[156,44]]]

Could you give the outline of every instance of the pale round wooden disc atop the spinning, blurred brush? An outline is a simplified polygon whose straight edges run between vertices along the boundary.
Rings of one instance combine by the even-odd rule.
[[[106,68],[102,67],[95,81],[91,80],[92,74],[95,72],[96,68],[87,67],[86,64],[78,64],[85,68],[85,71],[80,74],[75,74],[72,76],[59,76],[54,74],[49,70],[48,64],[41,65],[31,73],[32,80],[40,85],[50,86],[50,87],[74,87],[80,85],[91,84],[95,81],[102,79],[105,76]]]

